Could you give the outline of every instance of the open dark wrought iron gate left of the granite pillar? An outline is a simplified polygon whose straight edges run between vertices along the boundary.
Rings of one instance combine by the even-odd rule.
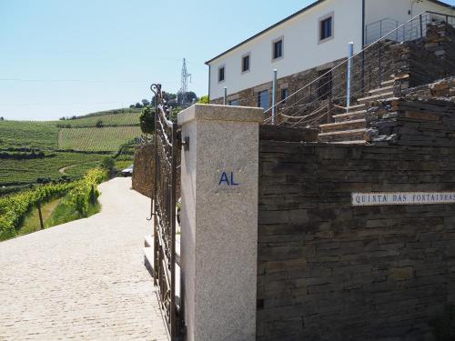
[[[177,339],[179,318],[176,302],[176,189],[179,131],[168,118],[161,85],[151,85],[155,94],[155,191],[152,213],[154,216],[154,282],[158,288],[161,308],[171,340]],[[180,304],[181,306],[181,304]],[[181,310],[181,309],[180,309]],[[180,311],[179,316],[183,312]]]

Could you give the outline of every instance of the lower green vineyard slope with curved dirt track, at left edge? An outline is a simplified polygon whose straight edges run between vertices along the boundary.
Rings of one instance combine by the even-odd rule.
[[[34,184],[39,177],[49,176],[52,179],[59,178],[64,174],[58,170],[70,165],[77,165],[69,174],[72,178],[84,176],[86,171],[99,164],[105,155],[79,154],[79,153],[55,153],[55,157],[32,160],[1,160],[0,187]]]

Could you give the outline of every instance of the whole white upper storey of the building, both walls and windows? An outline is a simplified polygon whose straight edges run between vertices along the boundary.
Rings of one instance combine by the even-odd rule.
[[[207,61],[211,101],[325,65],[389,33],[415,15],[455,15],[437,0],[319,0]],[[454,23],[455,24],[455,23]],[[260,91],[260,89],[258,90]]]

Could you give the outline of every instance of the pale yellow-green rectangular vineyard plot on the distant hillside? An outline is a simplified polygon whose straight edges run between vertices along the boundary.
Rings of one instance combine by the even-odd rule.
[[[120,145],[140,135],[138,126],[61,129],[59,147],[86,152],[115,152]]]

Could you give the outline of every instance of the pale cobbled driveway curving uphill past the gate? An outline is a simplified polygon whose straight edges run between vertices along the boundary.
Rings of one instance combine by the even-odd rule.
[[[149,199],[100,186],[102,212],[0,243],[0,340],[167,340],[143,265]]]

